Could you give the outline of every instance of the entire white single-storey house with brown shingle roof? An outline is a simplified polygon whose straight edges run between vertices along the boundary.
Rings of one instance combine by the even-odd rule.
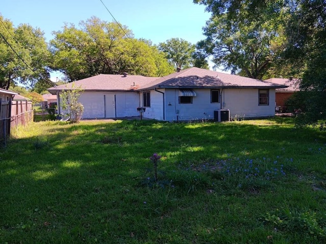
[[[144,107],[146,118],[174,121],[214,118],[221,109],[230,116],[274,116],[275,89],[286,85],[193,67],[161,78],[100,74],[48,91],[60,102],[61,91],[73,87],[84,90],[83,118],[139,116]]]

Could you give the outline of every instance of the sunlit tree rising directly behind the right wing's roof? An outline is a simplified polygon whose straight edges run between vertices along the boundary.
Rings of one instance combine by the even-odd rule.
[[[247,11],[213,13],[204,27],[207,38],[197,48],[213,56],[215,68],[222,66],[233,74],[262,79],[284,49],[284,29],[277,18],[253,20]]]

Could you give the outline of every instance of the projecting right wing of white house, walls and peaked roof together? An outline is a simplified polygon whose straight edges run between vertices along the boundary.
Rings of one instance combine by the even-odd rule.
[[[230,116],[269,117],[275,115],[275,89],[286,86],[199,68],[159,78],[137,89],[150,92],[150,106],[144,117],[158,120],[212,119],[214,111],[228,109]],[[180,101],[182,90],[190,96]],[[215,99],[212,97],[215,94]],[[266,97],[264,97],[266,96]]]

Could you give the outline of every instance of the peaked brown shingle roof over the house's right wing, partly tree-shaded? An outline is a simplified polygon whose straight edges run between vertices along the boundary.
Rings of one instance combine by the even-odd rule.
[[[154,88],[282,88],[285,85],[262,80],[225,74],[200,68],[189,68],[177,73],[156,79],[138,90]]]

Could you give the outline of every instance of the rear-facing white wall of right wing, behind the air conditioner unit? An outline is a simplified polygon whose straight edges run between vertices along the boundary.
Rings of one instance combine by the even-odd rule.
[[[166,120],[212,119],[221,103],[210,103],[210,89],[193,89],[196,97],[192,104],[179,104],[179,90],[166,89]],[[258,105],[258,89],[220,89],[222,108],[230,116],[263,117],[275,115],[275,89],[269,89],[269,105]],[[220,101],[221,102],[221,101]],[[169,105],[171,104],[171,105]]]

